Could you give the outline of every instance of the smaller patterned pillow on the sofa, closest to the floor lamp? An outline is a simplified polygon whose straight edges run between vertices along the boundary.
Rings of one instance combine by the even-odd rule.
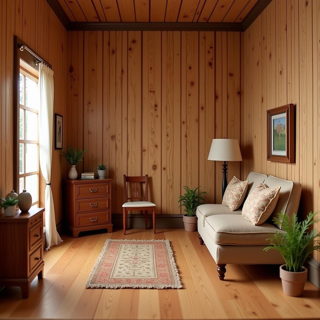
[[[237,210],[243,203],[247,189],[248,180],[241,181],[234,176],[226,188],[222,204],[227,205],[231,211]]]

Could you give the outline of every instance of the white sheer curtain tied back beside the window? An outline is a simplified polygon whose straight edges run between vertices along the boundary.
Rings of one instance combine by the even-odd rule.
[[[39,64],[39,156],[40,168],[46,187],[44,191],[46,250],[62,242],[56,228],[53,198],[50,186],[52,161],[52,122],[53,122],[53,71]]]

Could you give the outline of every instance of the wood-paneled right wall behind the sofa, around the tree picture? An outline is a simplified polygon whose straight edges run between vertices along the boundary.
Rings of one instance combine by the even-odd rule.
[[[320,1],[273,0],[241,43],[242,178],[257,171],[299,181],[305,216],[320,209]],[[296,107],[294,164],[266,160],[266,110],[287,103]]]

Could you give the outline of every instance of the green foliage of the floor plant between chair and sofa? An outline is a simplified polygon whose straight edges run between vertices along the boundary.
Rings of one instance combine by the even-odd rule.
[[[206,195],[207,193],[205,191],[199,192],[200,187],[190,189],[187,186],[183,186],[183,188],[186,190],[186,193],[179,196],[179,208],[185,207],[184,211],[187,212],[187,216],[193,217],[196,215],[197,206],[206,203],[202,195]]]

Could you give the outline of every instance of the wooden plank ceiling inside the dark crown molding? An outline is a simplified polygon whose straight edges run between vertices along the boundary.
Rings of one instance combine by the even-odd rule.
[[[242,22],[258,0],[58,0],[72,22]]]

